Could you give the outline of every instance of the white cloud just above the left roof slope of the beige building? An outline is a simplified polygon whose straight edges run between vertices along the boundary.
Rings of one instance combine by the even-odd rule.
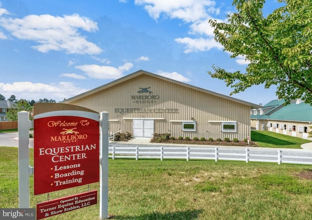
[[[119,66],[118,68],[113,66],[99,66],[99,65],[81,65],[81,66],[75,66],[76,69],[80,69],[85,74],[91,78],[94,79],[118,79],[120,77],[123,77],[123,72],[128,71],[133,67],[133,64],[130,62],[126,62],[122,66]]]

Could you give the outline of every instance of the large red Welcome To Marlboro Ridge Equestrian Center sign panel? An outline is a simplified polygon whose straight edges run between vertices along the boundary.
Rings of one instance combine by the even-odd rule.
[[[99,181],[99,115],[62,104],[34,105],[34,194]]]

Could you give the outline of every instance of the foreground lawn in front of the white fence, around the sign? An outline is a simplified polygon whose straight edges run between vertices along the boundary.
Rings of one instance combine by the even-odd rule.
[[[33,161],[32,150],[30,157]],[[0,207],[17,208],[17,148],[0,147],[0,170]],[[311,166],[109,160],[109,216],[116,220],[311,219],[312,181],[299,177],[302,172],[312,172]],[[47,194],[33,195],[33,177],[30,188],[31,207],[47,200]],[[99,184],[90,184],[89,188],[98,189]],[[81,186],[49,193],[49,197],[56,199],[85,191],[87,186]],[[98,218],[99,204],[49,219]]]

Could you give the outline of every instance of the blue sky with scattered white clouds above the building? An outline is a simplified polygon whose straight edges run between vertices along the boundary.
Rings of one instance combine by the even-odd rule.
[[[280,6],[268,1],[266,13]],[[207,71],[247,63],[223,51],[208,20],[234,10],[231,0],[0,0],[0,94],[61,101],[142,69],[229,95]],[[233,97],[265,104],[275,90]]]

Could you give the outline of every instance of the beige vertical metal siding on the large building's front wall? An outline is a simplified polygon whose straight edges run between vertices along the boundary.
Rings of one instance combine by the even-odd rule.
[[[138,93],[140,88],[149,88],[151,94]],[[157,95],[159,99],[149,100],[149,102],[153,101],[152,103],[137,103],[137,101],[144,101],[131,99],[131,96],[137,95]],[[91,96],[67,103],[98,112],[109,112],[110,120],[118,120],[110,121],[112,132],[121,129],[123,132],[132,133],[132,118],[152,118],[156,119],[154,125],[156,133],[170,132],[176,138],[179,136],[191,139],[227,137],[231,140],[234,138],[243,140],[250,135],[249,105],[149,75],[139,75]],[[131,112],[132,109],[137,108],[146,111]],[[178,109],[178,112],[168,112],[171,111],[170,109]],[[192,117],[196,121],[196,132],[184,132],[182,122],[171,122],[172,120],[190,121]],[[222,133],[221,121],[237,121],[237,132]]]

